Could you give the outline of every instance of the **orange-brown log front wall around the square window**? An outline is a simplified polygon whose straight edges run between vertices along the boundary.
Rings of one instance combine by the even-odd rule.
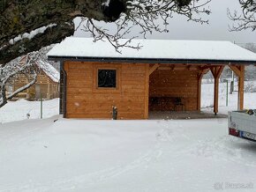
[[[117,69],[117,88],[98,88],[97,70]],[[65,62],[66,117],[147,119],[148,64]]]

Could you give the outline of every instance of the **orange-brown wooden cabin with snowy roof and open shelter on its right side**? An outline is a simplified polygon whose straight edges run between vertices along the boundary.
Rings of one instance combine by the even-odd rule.
[[[123,40],[125,41],[125,40]],[[200,111],[201,79],[219,78],[225,65],[239,79],[238,108],[244,107],[245,65],[256,55],[228,41],[134,40],[143,47],[117,53],[108,41],[67,38],[49,51],[61,63],[60,113],[67,118],[147,119],[150,111]]]

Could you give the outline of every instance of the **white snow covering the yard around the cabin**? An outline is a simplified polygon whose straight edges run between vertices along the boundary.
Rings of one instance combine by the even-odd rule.
[[[211,86],[202,87],[204,111]],[[229,107],[224,94],[221,113],[237,108],[237,93]],[[245,93],[245,107],[256,108],[255,92]],[[227,119],[67,120],[57,112],[58,100],[43,102],[42,120],[37,101],[0,109],[0,191],[256,190],[256,144],[228,136]]]

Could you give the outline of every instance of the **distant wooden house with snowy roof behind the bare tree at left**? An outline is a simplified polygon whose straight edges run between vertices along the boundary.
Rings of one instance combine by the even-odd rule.
[[[40,69],[36,83],[24,92],[19,92],[15,97],[16,99],[26,98],[27,100],[40,100],[42,97],[43,99],[50,100],[59,97],[59,72],[50,63],[39,61],[36,64]],[[27,78],[20,74],[11,82],[11,90],[9,88],[9,92],[13,92],[26,84]]]

